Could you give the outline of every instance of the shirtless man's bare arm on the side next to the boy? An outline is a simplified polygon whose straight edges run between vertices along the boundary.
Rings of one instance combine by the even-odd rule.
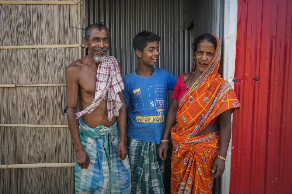
[[[119,69],[120,69],[120,73],[121,71],[121,65],[120,63],[118,63],[119,65]],[[120,129],[120,142],[118,145],[118,149],[117,149],[117,154],[118,154],[118,159],[119,160],[124,160],[127,156],[128,150],[127,150],[127,126],[126,126],[126,119],[127,119],[127,112],[126,112],[126,103],[124,101],[123,98],[123,93],[119,92],[119,96],[120,99],[123,103],[123,108],[120,109],[119,111],[119,117],[117,118],[117,122],[119,125],[119,129]]]

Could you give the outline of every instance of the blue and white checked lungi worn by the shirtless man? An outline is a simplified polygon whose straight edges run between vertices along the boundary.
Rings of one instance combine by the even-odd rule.
[[[75,162],[75,192],[91,194],[130,193],[129,159],[118,160],[120,140],[117,122],[106,127],[87,126],[79,119],[80,139],[89,155],[88,169],[81,169]]]

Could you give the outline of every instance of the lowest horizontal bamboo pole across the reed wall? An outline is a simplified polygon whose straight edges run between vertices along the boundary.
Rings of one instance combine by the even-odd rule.
[[[75,163],[1,164],[0,169],[74,167]]]

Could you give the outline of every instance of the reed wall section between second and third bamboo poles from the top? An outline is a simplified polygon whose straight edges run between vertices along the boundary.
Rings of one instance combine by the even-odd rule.
[[[5,65],[0,65],[0,82],[1,84],[66,83],[66,67],[77,58],[78,48],[3,49],[0,50],[0,62]]]

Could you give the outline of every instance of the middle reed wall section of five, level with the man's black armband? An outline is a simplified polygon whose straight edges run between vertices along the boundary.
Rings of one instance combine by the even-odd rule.
[[[67,125],[65,92],[66,86],[0,88],[0,123]]]

